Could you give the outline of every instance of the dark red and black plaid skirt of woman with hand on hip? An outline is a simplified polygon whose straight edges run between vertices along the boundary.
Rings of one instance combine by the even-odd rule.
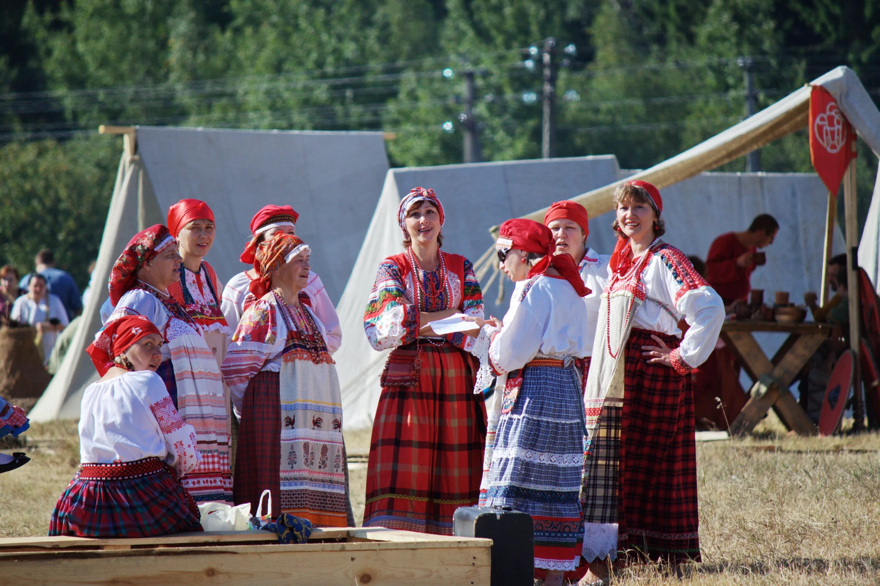
[[[700,561],[691,377],[646,362],[642,346],[656,345],[652,334],[670,348],[679,344],[646,329],[633,329],[627,341],[618,549],[642,559]]]

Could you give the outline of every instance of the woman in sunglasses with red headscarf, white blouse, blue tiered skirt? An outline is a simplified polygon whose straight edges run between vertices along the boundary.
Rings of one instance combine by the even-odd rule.
[[[568,253],[554,255],[550,229],[536,221],[505,221],[495,248],[517,285],[503,322],[474,320],[480,342],[488,341],[478,342],[488,345],[480,374],[507,375],[485,504],[532,516],[535,568],[547,570],[547,584],[561,584],[565,570],[577,567],[583,540],[581,358],[591,343],[583,302],[590,290]],[[475,392],[484,386],[478,381]]]

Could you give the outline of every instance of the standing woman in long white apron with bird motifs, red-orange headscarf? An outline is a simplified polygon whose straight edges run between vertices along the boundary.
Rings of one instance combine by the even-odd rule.
[[[223,372],[241,414],[235,502],[257,509],[269,489],[281,512],[321,527],[354,526],[336,366],[319,318],[301,300],[309,247],[279,233],[256,251],[256,297],[232,336]],[[276,501],[277,502],[277,501]]]

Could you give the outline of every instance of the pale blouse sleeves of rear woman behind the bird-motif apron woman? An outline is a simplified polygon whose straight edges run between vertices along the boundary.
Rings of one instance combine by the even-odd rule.
[[[229,324],[230,339],[238,328],[241,316],[245,314],[246,306],[250,306],[256,300],[249,289],[250,285],[251,278],[248,277],[247,271],[244,271],[229,279],[224,287],[220,308],[226,317],[226,323]],[[339,323],[339,315],[336,315],[336,307],[330,300],[324,283],[313,271],[309,271],[309,284],[305,286],[303,293],[309,296],[312,312],[318,316],[324,326],[326,332],[324,344],[327,345],[327,351],[333,355],[342,344],[342,327]]]

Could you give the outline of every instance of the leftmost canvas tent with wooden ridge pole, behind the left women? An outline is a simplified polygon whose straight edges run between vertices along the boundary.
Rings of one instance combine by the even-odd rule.
[[[312,242],[312,267],[338,300],[355,264],[388,169],[381,133],[131,127],[101,238],[94,293],[58,373],[30,413],[33,421],[77,418],[84,388],[95,380],[85,354],[100,327],[106,280],[132,235],[165,223],[179,199],[206,201],[216,218],[207,260],[225,282],[246,265],[238,255],[250,221],[267,204],[300,214],[297,235]],[[328,214],[329,213],[329,214]],[[327,237],[327,222],[341,229]]]

